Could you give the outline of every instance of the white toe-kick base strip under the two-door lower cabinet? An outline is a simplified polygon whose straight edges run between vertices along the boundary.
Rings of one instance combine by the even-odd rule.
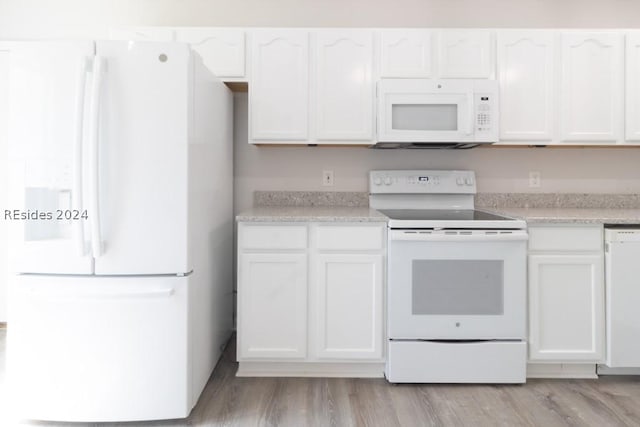
[[[240,362],[236,376],[383,378],[384,362]]]

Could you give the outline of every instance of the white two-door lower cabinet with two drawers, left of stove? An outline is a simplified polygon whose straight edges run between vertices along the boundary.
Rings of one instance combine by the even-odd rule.
[[[382,376],[385,237],[384,223],[240,222],[238,375]]]

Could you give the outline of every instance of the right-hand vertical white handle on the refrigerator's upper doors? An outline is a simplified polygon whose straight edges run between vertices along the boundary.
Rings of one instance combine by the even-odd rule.
[[[102,254],[102,237],[100,236],[100,203],[99,203],[99,121],[100,92],[102,89],[102,73],[104,58],[96,55],[93,58],[93,79],[91,81],[91,102],[89,104],[89,208],[91,229],[91,252],[93,257]]]

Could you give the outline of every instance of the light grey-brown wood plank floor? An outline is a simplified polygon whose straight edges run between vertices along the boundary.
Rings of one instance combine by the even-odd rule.
[[[0,330],[0,362],[5,331]],[[237,378],[225,351],[185,420],[63,426],[640,426],[640,377],[525,385],[390,385],[384,379]],[[4,366],[0,367],[0,380]]]

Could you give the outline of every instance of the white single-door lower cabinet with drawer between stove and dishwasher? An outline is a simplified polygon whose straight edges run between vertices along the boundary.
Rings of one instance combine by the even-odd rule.
[[[529,360],[604,358],[602,226],[531,227]]]

